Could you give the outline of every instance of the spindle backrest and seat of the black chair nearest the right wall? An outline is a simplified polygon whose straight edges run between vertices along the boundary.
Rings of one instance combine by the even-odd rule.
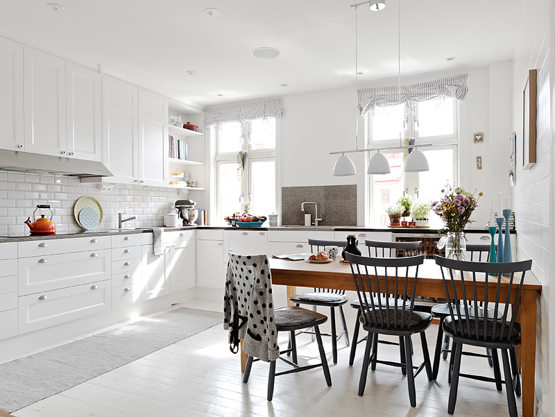
[[[438,255],[435,259],[441,267],[446,298],[456,300],[454,304],[447,303],[454,336],[477,342],[509,343],[515,328],[524,277],[532,266],[531,259],[506,263],[457,261]],[[502,274],[508,276],[502,277]],[[466,290],[469,280],[472,282],[470,294]],[[490,289],[490,284],[495,284],[495,287]],[[513,288],[513,284],[518,284],[518,287]],[[507,287],[506,296],[502,297],[504,286]],[[479,288],[484,291],[484,318],[479,317],[478,309],[469,308],[470,305],[478,305]],[[493,303],[488,301],[491,291],[495,293]],[[513,308],[509,314],[511,305]],[[488,309],[492,307],[490,317]]]

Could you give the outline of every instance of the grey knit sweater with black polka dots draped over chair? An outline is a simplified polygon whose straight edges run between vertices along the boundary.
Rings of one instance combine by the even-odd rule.
[[[273,314],[272,280],[266,255],[237,255],[230,250],[223,297],[223,328],[229,330],[230,350],[263,361],[280,356]]]

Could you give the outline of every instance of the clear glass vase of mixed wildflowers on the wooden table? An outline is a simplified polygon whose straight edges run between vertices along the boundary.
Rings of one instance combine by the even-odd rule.
[[[441,192],[443,196],[439,201],[430,204],[432,211],[440,216],[443,221],[443,229],[439,233],[446,235],[439,239],[437,247],[445,247],[445,257],[466,260],[466,237],[464,228],[472,223],[470,215],[478,207],[478,201],[484,193],[479,193],[478,198],[474,194],[466,192],[462,187],[451,187],[447,185]]]

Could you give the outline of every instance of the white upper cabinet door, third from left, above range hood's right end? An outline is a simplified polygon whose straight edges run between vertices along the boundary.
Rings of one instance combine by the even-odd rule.
[[[67,156],[102,160],[101,76],[99,71],[67,62]]]

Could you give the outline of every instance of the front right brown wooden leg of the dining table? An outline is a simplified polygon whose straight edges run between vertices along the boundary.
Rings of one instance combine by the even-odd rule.
[[[521,297],[522,417],[533,417],[536,377],[536,291],[522,290]]]

